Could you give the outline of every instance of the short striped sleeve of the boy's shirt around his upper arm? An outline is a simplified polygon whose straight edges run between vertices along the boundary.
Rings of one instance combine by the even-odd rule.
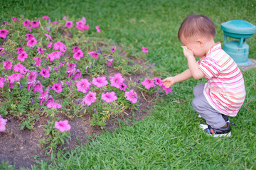
[[[206,57],[204,60],[200,62],[199,69],[201,69],[203,74],[206,75],[207,79],[211,79],[216,74],[222,71],[220,64],[218,64],[216,60],[210,57]]]

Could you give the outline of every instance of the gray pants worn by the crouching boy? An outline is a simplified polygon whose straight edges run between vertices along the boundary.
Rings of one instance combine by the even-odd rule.
[[[204,86],[205,84],[199,84],[193,89],[193,94],[195,96],[192,102],[193,108],[212,128],[221,128],[225,125],[223,114],[210,106],[206,97],[203,95]]]

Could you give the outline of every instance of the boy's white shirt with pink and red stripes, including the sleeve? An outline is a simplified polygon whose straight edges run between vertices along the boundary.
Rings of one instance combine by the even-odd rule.
[[[198,61],[208,81],[203,94],[210,106],[229,116],[236,116],[245,101],[245,83],[238,65],[221,49],[220,42]]]

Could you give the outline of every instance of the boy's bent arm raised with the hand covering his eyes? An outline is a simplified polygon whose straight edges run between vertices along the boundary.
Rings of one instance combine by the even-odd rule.
[[[188,47],[182,46],[183,53],[188,60],[188,68],[191,72],[191,75],[194,79],[201,79],[205,75],[203,74],[202,70],[199,69],[199,65],[196,62],[195,57],[193,56],[193,51],[189,50]]]

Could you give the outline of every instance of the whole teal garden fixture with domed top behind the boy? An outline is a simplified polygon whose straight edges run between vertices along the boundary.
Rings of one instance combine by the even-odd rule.
[[[246,39],[256,33],[256,26],[243,20],[232,20],[221,23],[220,28],[224,32],[223,50],[235,60],[238,66],[248,66],[252,64],[248,58],[249,45],[247,45]],[[228,37],[238,40],[228,42]]]

